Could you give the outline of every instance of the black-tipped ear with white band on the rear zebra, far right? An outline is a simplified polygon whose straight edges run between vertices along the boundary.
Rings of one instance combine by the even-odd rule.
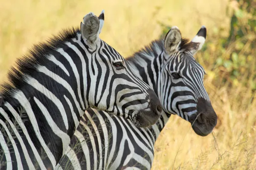
[[[201,29],[198,31],[196,36],[190,42],[190,52],[194,55],[198,50],[201,50],[202,46],[204,45],[206,39],[206,28],[202,26]]]

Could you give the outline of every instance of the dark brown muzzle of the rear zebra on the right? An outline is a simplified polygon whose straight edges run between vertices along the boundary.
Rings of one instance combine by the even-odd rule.
[[[217,114],[210,102],[203,98],[198,99],[198,112],[189,117],[193,130],[199,136],[207,136],[217,124]]]

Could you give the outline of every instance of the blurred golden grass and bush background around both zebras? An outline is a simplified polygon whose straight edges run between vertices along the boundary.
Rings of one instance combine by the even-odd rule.
[[[207,41],[195,58],[218,124],[197,136],[171,116],[155,144],[153,170],[256,168],[256,0],[0,0],[0,82],[15,59],[85,14],[105,9],[100,37],[124,57],[178,26],[190,40],[202,25]]]

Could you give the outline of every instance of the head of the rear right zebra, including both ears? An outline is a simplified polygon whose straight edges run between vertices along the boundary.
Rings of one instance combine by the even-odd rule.
[[[181,37],[177,26],[172,27],[164,40],[162,55],[160,100],[163,110],[191,122],[200,136],[212,132],[217,115],[203,85],[204,68],[193,55],[202,48],[206,38],[204,26],[191,42]]]

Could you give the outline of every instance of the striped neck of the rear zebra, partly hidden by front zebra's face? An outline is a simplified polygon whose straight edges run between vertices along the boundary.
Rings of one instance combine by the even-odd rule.
[[[163,40],[155,40],[151,42],[149,46],[145,47],[145,49],[138,51],[133,56],[126,59],[132,71],[146,82],[155,91],[158,97],[160,96],[161,88],[161,64],[163,61],[161,54],[163,51]],[[169,113],[163,111],[157,123],[151,126],[152,128],[148,128],[155,139],[157,139],[161,130],[163,130],[170,116]]]

